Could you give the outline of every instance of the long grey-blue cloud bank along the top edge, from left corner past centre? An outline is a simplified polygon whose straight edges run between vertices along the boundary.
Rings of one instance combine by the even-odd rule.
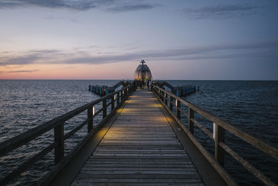
[[[128,3],[127,3],[128,2]],[[64,8],[70,10],[90,10],[101,8],[102,10],[119,13],[134,10],[152,9],[158,4],[138,3],[138,1],[116,1],[116,0],[1,0],[0,8],[18,8],[37,6],[42,8]],[[48,17],[52,20],[52,17]],[[70,20],[75,22],[75,20]]]

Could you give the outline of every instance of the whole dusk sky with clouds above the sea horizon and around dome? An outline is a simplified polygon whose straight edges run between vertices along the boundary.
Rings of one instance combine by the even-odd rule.
[[[278,80],[278,1],[0,0],[0,79]]]

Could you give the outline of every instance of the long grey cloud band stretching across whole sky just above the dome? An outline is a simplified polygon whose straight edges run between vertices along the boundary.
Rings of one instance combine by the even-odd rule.
[[[150,50],[129,53],[104,52],[92,55],[87,51],[32,50],[26,54],[7,54],[0,57],[0,66],[26,64],[101,64],[122,61],[148,60],[196,60],[252,57],[278,57],[278,40],[239,43],[229,45],[206,45],[181,49]]]

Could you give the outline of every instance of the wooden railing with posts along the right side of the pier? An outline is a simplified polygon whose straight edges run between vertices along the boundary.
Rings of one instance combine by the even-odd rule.
[[[159,88],[158,86],[154,85],[153,92],[158,98],[158,100],[162,102],[165,108],[170,112],[173,118],[177,121],[177,123],[179,123],[183,131],[186,132],[186,134],[188,134],[188,137],[191,139],[193,144],[197,146],[199,151],[204,155],[204,157],[206,157],[206,160],[208,160],[208,162],[211,163],[211,165],[215,168],[216,171],[218,171],[220,176],[222,176],[222,178],[227,182],[228,185],[237,185],[237,184],[234,181],[234,179],[231,178],[231,176],[229,176],[227,171],[225,171],[225,169],[223,168],[225,153],[231,155],[231,157],[233,157],[236,161],[238,161],[241,165],[243,165],[245,169],[250,171],[254,176],[256,176],[256,178],[261,180],[265,185],[276,185],[275,183],[272,182],[272,180],[270,180],[263,173],[261,173],[261,171],[256,169],[252,164],[250,164],[246,160],[244,160],[243,157],[238,155],[238,153],[236,153],[234,150],[229,148],[227,144],[224,143],[225,131],[234,134],[236,137],[242,139],[243,141],[246,141],[248,144],[251,144],[257,149],[263,151],[264,153],[274,157],[276,160],[278,160],[277,148],[265,144],[265,142],[250,136],[250,134],[246,134],[245,132],[241,131],[237,127],[234,127],[233,125],[231,125],[231,123],[222,121],[220,118],[217,118],[216,116],[213,116],[213,114],[208,113],[208,111],[204,111],[203,109],[200,109],[194,104],[186,100],[183,100],[168,91],[165,91],[163,88]],[[188,113],[186,111],[183,111],[183,109],[181,108],[181,104],[185,105],[188,108]],[[177,108],[176,109],[177,113],[173,112],[173,105]],[[213,123],[213,133],[195,120],[194,118],[195,112]],[[186,118],[188,118],[188,128],[181,122],[181,114],[183,114],[183,116],[186,116]],[[211,155],[211,153],[208,153],[208,151],[199,143],[199,141],[197,141],[197,139],[195,139],[194,125],[199,127],[200,130],[202,130],[205,134],[208,135],[208,137],[210,137],[213,141],[215,141],[214,157],[213,155]]]

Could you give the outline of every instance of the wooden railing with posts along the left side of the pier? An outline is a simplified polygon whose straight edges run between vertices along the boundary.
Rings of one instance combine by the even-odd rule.
[[[45,176],[46,180],[54,178],[56,174],[69,162],[74,155],[81,149],[81,147],[92,137],[97,130],[101,127],[103,123],[105,123],[108,118],[110,118],[116,111],[120,105],[128,98],[129,95],[133,92],[133,85],[128,86],[126,88],[122,88],[119,91],[115,91],[114,93],[111,93],[109,95],[106,95],[102,98],[99,98],[98,100],[92,101],[88,104],[85,104],[77,109],[74,109],[72,111],[67,112],[66,114],[63,114],[62,116],[58,116],[57,118],[54,118],[51,121],[48,121],[47,123],[43,123],[42,125],[38,125],[38,127],[34,127],[31,130],[28,130],[27,132],[24,132],[22,134],[19,134],[16,137],[13,137],[12,139],[8,139],[6,141],[3,141],[0,144],[0,156],[4,156],[7,153],[10,153],[11,151],[15,150],[16,148],[19,148],[21,146],[24,146],[29,141],[32,141],[33,139],[36,139],[37,137],[42,136],[42,134],[49,132],[50,130],[54,129],[54,142],[47,146],[47,148],[44,148],[39,153],[34,155],[33,157],[29,158],[22,164],[20,164],[17,168],[15,168],[12,172],[8,173],[7,176],[0,179],[0,185],[6,185],[10,183],[13,179],[17,178],[21,173],[26,171],[31,165],[35,164],[35,162],[38,162],[42,157],[47,155],[47,153],[51,152],[51,150],[54,149],[54,157],[55,157],[55,167],[53,170],[51,170],[51,173],[49,175]],[[108,100],[111,100],[109,103],[107,103]],[[98,111],[95,111],[95,105],[102,102],[102,107]],[[116,105],[115,105],[116,104]],[[110,114],[107,115],[107,108],[111,105],[111,111]],[[65,122],[73,118],[74,116],[78,116],[83,111],[87,110],[88,117],[83,123],[77,125],[72,131],[68,132],[67,134],[64,134],[64,125]],[[95,116],[100,114],[102,112],[102,120],[97,125],[97,127],[94,127],[93,121]],[[84,125],[87,124],[88,128],[88,134],[83,137],[83,139],[77,144],[71,151],[65,156],[65,145],[64,142],[66,139],[70,138],[74,133],[79,131]]]

